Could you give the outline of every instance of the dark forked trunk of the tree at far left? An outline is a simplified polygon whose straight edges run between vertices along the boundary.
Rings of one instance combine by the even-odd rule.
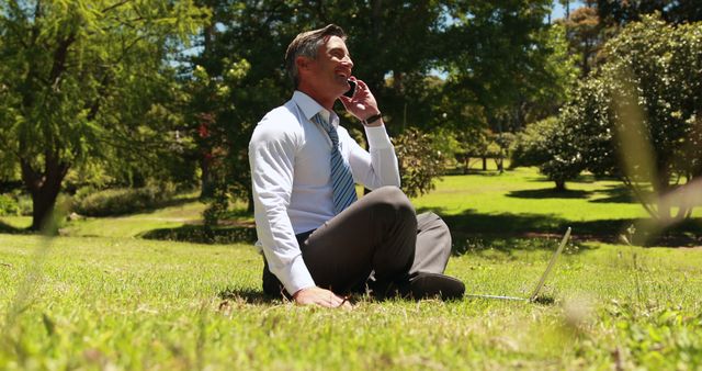
[[[30,229],[39,231],[54,212],[56,199],[69,166],[59,162],[54,156],[46,156],[44,172],[32,168],[26,159],[21,159],[20,162],[22,180],[32,194],[32,226]]]

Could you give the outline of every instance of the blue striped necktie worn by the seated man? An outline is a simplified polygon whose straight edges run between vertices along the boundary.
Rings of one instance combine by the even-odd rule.
[[[315,121],[321,128],[329,134],[331,139],[331,184],[333,193],[333,212],[335,214],[341,213],[344,209],[349,207],[355,200],[355,184],[353,183],[353,177],[351,176],[351,168],[349,164],[341,157],[339,150],[339,134],[337,128],[328,123],[321,113],[317,113],[313,121]]]

